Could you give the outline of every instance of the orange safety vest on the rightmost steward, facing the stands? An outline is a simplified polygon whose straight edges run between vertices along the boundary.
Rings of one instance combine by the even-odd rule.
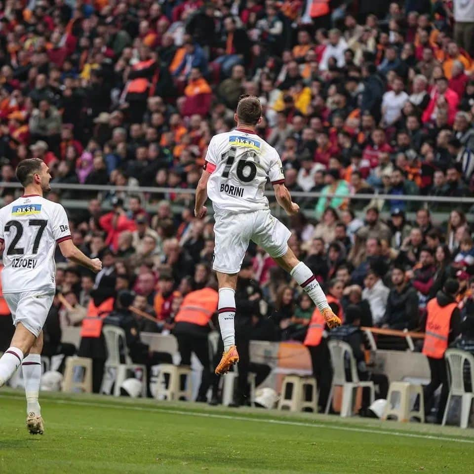
[[[425,342],[423,354],[434,359],[441,359],[448,348],[449,325],[456,303],[439,306],[436,298],[426,305],[428,317],[426,321]]]

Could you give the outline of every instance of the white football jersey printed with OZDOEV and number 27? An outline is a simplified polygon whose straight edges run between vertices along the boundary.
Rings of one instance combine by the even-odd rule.
[[[61,204],[30,195],[2,207],[3,293],[54,290],[56,242],[68,238],[71,238],[68,216]]]

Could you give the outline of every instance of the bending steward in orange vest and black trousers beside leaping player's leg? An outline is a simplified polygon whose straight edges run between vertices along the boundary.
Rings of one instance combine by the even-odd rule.
[[[173,334],[178,340],[182,365],[191,365],[194,352],[202,364],[202,377],[196,401],[207,401],[207,390],[212,381],[211,358],[209,356],[209,321],[217,311],[219,293],[206,286],[202,290],[187,294],[174,318]]]

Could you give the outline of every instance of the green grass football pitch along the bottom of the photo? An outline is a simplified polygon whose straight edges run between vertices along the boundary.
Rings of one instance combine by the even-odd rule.
[[[467,474],[474,430],[95,395],[0,391],[0,473]]]

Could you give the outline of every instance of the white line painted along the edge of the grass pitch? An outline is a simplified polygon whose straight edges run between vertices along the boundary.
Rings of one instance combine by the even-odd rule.
[[[1,398],[15,398],[23,399],[23,397],[15,395],[0,395]],[[387,430],[371,430],[369,428],[354,428],[350,426],[338,426],[330,425],[329,423],[305,423],[299,421],[287,421],[287,420],[277,420],[275,418],[249,418],[245,416],[238,415],[220,415],[218,413],[199,413],[194,411],[185,411],[185,410],[175,410],[167,408],[146,408],[142,406],[132,406],[127,403],[124,404],[114,404],[114,403],[97,403],[97,402],[86,402],[86,401],[77,401],[77,400],[58,400],[54,398],[49,398],[45,400],[46,402],[58,403],[58,404],[71,404],[71,405],[80,405],[80,406],[95,406],[100,408],[116,408],[119,410],[128,409],[135,411],[148,411],[152,413],[163,413],[171,415],[186,415],[186,416],[200,416],[204,418],[218,418],[223,420],[237,420],[237,421],[251,421],[257,423],[271,423],[274,425],[289,425],[289,426],[303,426],[307,428],[323,428],[327,430],[340,430],[340,431],[352,431],[356,433],[370,433],[372,435],[392,435],[400,436],[407,438],[420,438],[420,439],[433,439],[435,441],[453,441],[456,443],[469,443],[474,444],[474,439],[467,438],[451,438],[447,436],[437,436],[437,435],[422,435],[417,433],[403,433],[399,431],[387,431]]]

